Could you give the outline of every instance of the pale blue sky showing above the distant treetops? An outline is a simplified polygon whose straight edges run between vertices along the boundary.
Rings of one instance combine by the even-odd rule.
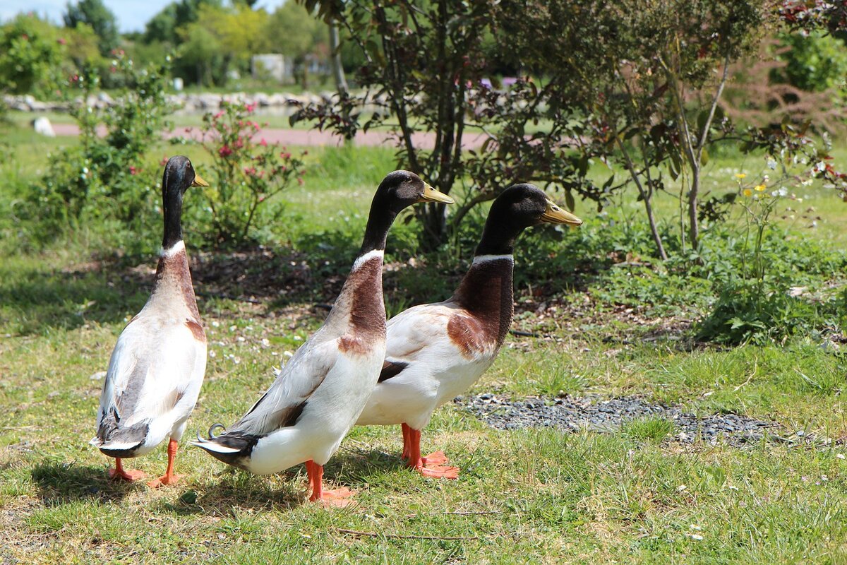
[[[144,30],[149,19],[173,0],[103,0],[107,8],[118,18],[118,27],[122,33]],[[260,0],[257,8],[273,12],[285,0]],[[62,23],[62,14],[68,0],[3,0],[0,2],[0,21],[14,18],[19,12],[35,12],[54,24]]]

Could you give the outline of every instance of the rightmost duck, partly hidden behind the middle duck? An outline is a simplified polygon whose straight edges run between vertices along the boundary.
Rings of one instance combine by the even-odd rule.
[[[400,424],[401,457],[424,476],[458,478],[444,451],[421,456],[421,430],[494,363],[514,316],[515,241],[526,228],[545,223],[576,226],[582,220],[537,186],[509,186],[491,204],[473,262],[453,295],[388,321],[385,361],[356,424]]]

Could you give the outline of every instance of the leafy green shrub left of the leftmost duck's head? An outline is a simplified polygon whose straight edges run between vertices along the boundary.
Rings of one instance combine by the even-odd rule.
[[[72,109],[80,126],[80,146],[51,155],[45,174],[31,186],[43,235],[91,219],[101,225],[114,220],[137,233],[158,217],[161,171],[145,166],[145,156],[171,109],[165,97],[166,69],[136,69],[122,50],[112,55],[107,72],[119,75],[125,86],[113,94],[110,108],[92,103],[102,92],[97,69],[86,68],[68,78],[67,96],[82,100]],[[103,130],[105,136],[98,135]]]

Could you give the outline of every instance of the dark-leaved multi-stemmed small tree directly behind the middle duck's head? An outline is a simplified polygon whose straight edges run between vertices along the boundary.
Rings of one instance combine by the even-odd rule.
[[[304,2],[327,23],[347,30],[365,64],[357,71],[362,96],[341,93],[332,104],[303,108],[292,117],[316,119],[351,139],[359,129],[385,124],[400,146],[402,166],[421,174],[448,193],[462,176],[468,98],[486,76],[480,46],[494,23],[497,2],[436,0],[427,4],[353,0],[347,3]],[[375,114],[363,114],[375,105]],[[396,122],[395,122],[396,120]],[[417,130],[435,132],[435,147],[420,147]],[[447,233],[445,207],[419,207],[425,248],[440,245]]]

